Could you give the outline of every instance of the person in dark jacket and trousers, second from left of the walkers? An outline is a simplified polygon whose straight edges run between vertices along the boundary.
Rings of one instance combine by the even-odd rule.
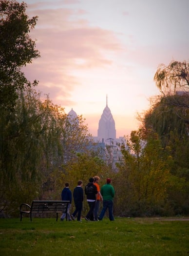
[[[74,197],[74,203],[76,206],[76,210],[71,215],[72,220],[75,220],[75,216],[77,214],[77,221],[81,221],[81,212],[83,208],[83,188],[82,188],[83,182],[82,180],[77,181],[77,186],[74,189],[73,197]]]

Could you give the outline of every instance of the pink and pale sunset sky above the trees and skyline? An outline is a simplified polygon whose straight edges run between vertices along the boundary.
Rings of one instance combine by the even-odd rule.
[[[30,36],[41,56],[25,76],[39,81],[41,97],[82,115],[93,136],[106,97],[116,137],[130,135],[160,94],[158,66],[189,61],[189,0],[24,2],[29,18],[38,16]]]

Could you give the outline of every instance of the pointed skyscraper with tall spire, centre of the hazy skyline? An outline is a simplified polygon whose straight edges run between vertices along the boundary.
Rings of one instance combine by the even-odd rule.
[[[115,121],[113,120],[112,113],[108,107],[108,96],[106,95],[106,107],[103,110],[102,116],[98,122],[97,137],[99,140],[104,140],[107,142],[107,138],[115,139]],[[110,143],[110,142],[109,142]]]

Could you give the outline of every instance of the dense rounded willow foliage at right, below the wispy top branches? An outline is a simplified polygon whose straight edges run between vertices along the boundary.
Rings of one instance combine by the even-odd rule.
[[[170,134],[179,139],[189,136],[189,94],[162,96],[148,110],[142,119],[146,129],[152,129],[164,146],[168,145]]]

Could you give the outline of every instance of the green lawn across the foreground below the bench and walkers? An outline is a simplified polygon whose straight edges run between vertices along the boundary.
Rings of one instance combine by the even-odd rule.
[[[0,219],[3,256],[189,256],[189,220],[115,218]]]

